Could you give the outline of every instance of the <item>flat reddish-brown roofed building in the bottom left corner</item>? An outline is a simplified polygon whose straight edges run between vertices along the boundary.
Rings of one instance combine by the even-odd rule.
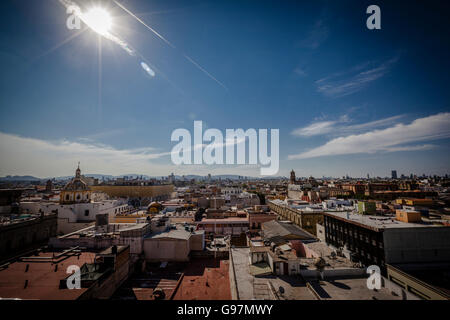
[[[80,268],[80,289],[68,289],[69,266]],[[95,253],[78,247],[37,251],[0,266],[0,298],[26,300],[109,299],[130,272],[129,247]],[[69,280],[70,281],[70,280]],[[73,283],[73,282],[72,282]]]

